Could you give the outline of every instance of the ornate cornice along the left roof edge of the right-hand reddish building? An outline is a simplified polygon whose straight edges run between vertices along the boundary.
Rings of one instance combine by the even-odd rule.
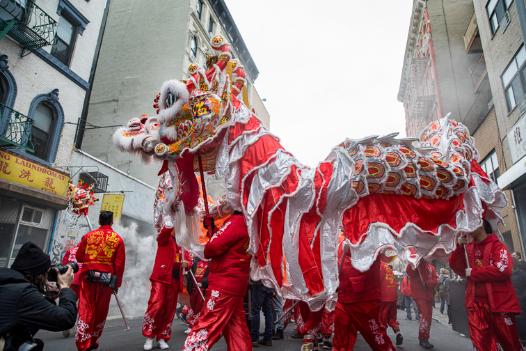
[[[411,72],[411,61],[413,59],[412,53],[418,44],[418,36],[420,35],[420,24],[424,17],[424,9],[427,3],[425,0],[413,1],[413,12],[411,13],[411,25],[409,26],[409,33],[407,36],[406,52],[404,53],[404,64],[402,66],[402,74],[400,79],[400,87],[398,91],[398,101],[404,102],[408,86],[408,78]]]

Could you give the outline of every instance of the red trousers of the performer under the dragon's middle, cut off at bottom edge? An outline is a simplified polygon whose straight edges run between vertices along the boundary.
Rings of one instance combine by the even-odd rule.
[[[378,300],[352,304],[338,302],[334,312],[334,351],[353,350],[356,331],[360,331],[371,350],[396,351],[385,328],[378,322]]]

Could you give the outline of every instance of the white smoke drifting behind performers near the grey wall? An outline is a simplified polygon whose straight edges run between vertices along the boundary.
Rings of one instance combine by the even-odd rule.
[[[139,235],[137,224],[134,222],[128,227],[115,223],[113,231],[122,237],[126,249],[125,273],[118,293],[120,301],[124,305],[127,317],[142,317],[150,298],[149,279],[157,252],[157,242],[153,235]]]

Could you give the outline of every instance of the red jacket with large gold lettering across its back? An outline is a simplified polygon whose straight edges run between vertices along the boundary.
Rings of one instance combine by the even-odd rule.
[[[84,279],[88,271],[96,270],[118,276],[117,286],[120,287],[126,253],[122,238],[111,229],[111,226],[101,226],[84,235],[76,257],[79,265],[82,263],[79,279]]]

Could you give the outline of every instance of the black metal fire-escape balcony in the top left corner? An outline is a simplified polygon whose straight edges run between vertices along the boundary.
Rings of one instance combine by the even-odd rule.
[[[0,0],[0,40],[8,34],[24,49],[51,45],[57,22],[33,0]]]

